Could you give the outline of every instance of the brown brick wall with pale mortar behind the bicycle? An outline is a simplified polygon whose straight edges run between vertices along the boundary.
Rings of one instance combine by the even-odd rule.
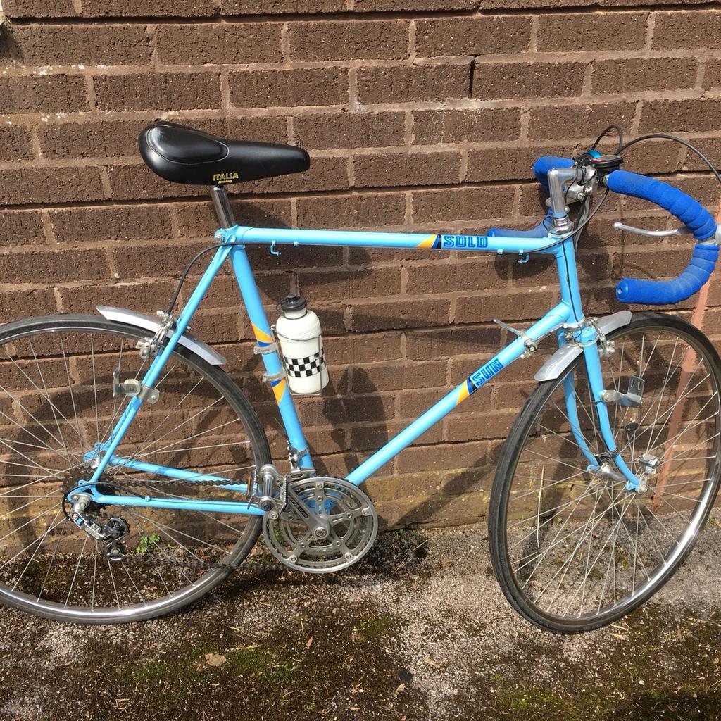
[[[157,117],[298,143],[309,172],[241,188],[243,224],[482,231],[541,213],[531,164],[607,123],[682,133],[721,160],[721,12],[697,0],[4,0],[0,36],[0,319],[153,311],[214,229],[197,189],[141,163]],[[718,190],[678,146],[627,167],[707,205]],[[676,274],[678,240],[611,229],[663,223],[613,200],[580,250],[587,310],[614,311],[624,273]],[[687,240],[683,241],[684,244]],[[678,251],[678,252],[677,252]],[[477,255],[254,249],[269,309],[294,288],[319,312],[332,371],[301,412],[323,472],[345,474],[554,302],[553,268]],[[270,428],[229,276],[193,324]],[[690,309],[691,299],[684,305]],[[721,332],[713,287],[707,330]],[[682,311],[683,312],[683,311]],[[686,310],[686,313],[689,311]],[[518,363],[368,485],[388,523],[478,518],[538,361]],[[332,392],[333,393],[332,393]],[[280,450],[280,444],[276,448]]]

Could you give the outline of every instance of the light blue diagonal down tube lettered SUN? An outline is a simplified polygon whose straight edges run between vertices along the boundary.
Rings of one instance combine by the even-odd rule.
[[[567,304],[561,303],[557,305],[546,316],[526,330],[526,337],[530,340],[539,340],[567,322],[571,312],[570,306]],[[397,456],[404,448],[410,446],[416,438],[425,433],[435,423],[438,423],[443,417],[446,417],[458,404],[476,392],[481,386],[484,386],[487,381],[490,381],[500,371],[503,371],[503,368],[510,366],[513,361],[521,358],[525,350],[523,339],[516,338],[475,373],[472,373],[463,383],[456,386],[448,395],[402,430],[395,438],[392,438],[383,448],[363,461],[358,468],[348,474],[346,479],[355,485],[361,485],[381,466],[394,458],[394,456]]]

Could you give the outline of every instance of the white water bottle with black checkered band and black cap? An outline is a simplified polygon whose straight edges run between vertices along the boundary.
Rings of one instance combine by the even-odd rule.
[[[320,321],[301,296],[286,296],[278,306],[275,335],[292,393],[319,393],[327,386],[328,368],[323,354]]]

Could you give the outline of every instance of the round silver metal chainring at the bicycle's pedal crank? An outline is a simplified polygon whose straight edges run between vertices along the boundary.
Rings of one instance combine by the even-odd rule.
[[[329,530],[319,538],[291,503],[282,513],[265,513],[265,544],[280,562],[306,573],[332,573],[368,553],[378,534],[378,514],[358,486],[340,478],[314,477],[295,481],[291,488],[328,521]]]

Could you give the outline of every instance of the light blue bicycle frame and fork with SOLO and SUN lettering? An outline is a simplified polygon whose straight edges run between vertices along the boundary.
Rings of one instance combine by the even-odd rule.
[[[606,444],[606,453],[602,454],[604,459],[612,459],[616,468],[627,479],[627,489],[635,490],[638,486],[638,479],[632,474],[627,464],[619,454],[614,441],[614,434],[611,430],[609,413],[606,405],[601,400],[603,392],[603,379],[601,375],[601,362],[596,343],[596,330],[593,327],[583,326],[583,311],[581,310],[580,291],[578,286],[578,275],[576,272],[575,248],[572,238],[558,238],[548,235],[542,238],[531,237],[504,237],[504,236],[477,236],[477,235],[423,235],[412,233],[367,233],[354,231],[321,231],[321,230],[294,230],[294,229],[267,229],[251,228],[245,226],[234,226],[228,229],[221,229],[216,233],[216,240],[219,242],[216,254],[211,260],[208,269],[205,270],[202,278],[196,286],[193,294],[182,309],[174,327],[174,332],[168,338],[166,345],[157,353],[150,367],[142,379],[143,386],[153,387],[158,380],[162,370],[172,354],[178,340],[185,332],[188,323],[195,309],[198,308],[205,292],[208,291],[213,278],[221,266],[230,259],[240,293],[242,295],[247,313],[252,324],[255,338],[261,351],[260,355],[265,364],[267,378],[273,387],[280,417],[286,429],[288,443],[291,449],[298,456],[298,466],[306,474],[314,474],[313,461],[304,437],[301,423],[298,420],[293,397],[288,389],[288,384],[283,375],[283,363],[278,355],[278,350],[273,340],[273,332],[265,314],[258,292],[255,278],[249,265],[245,247],[249,244],[270,244],[271,249],[275,245],[320,245],[320,246],[348,246],[348,247],[371,247],[371,248],[427,248],[429,252],[439,249],[456,249],[467,252],[492,252],[497,254],[512,254],[522,257],[528,253],[552,255],[556,260],[558,276],[560,281],[560,302],[551,309],[543,318],[526,329],[523,337],[517,337],[507,345],[500,353],[497,353],[490,361],[484,363],[477,371],[472,373],[463,383],[456,386],[450,393],[430,407],[423,415],[413,421],[398,435],[386,443],[385,446],[376,451],[360,466],[355,468],[347,476],[348,481],[355,485],[361,485],[381,466],[394,458],[397,454],[407,448],[416,438],[425,433],[431,426],[438,423],[451,410],[463,402],[479,388],[485,385],[490,379],[517,361],[526,353],[526,343],[538,341],[542,337],[556,332],[559,345],[565,342],[565,327],[572,329],[574,342],[583,345],[585,370],[590,386],[590,393],[593,397],[598,427],[601,431],[603,442]],[[573,376],[570,375],[565,381],[565,403],[567,416],[570,420],[571,430],[575,441],[580,446],[583,454],[588,459],[589,469],[598,469],[601,462],[585,442],[580,429],[578,419],[578,407],[576,404],[575,384]],[[215,481],[227,481],[222,485],[228,490],[245,494],[247,484],[236,482],[233,479],[224,477],[209,476],[207,474],[194,473],[187,470],[169,468],[156,464],[142,463],[132,459],[125,459],[116,456],[120,442],[125,432],[130,427],[133,419],[141,410],[143,401],[134,397],[128,402],[123,414],[115,424],[110,438],[105,443],[99,444],[92,451],[89,451],[85,458],[97,464],[92,478],[84,483],[82,488],[91,492],[97,503],[118,505],[118,506],[140,506],[145,508],[172,508],[185,510],[200,510],[204,512],[218,513],[245,513],[262,516],[263,511],[257,506],[245,501],[214,501],[185,498],[144,497],[138,495],[105,495],[95,484],[99,482],[101,474],[107,466],[123,466],[139,472],[156,474],[169,478],[183,479],[186,481],[213,479]],[[69,494],[68,494],[69,497]]]

